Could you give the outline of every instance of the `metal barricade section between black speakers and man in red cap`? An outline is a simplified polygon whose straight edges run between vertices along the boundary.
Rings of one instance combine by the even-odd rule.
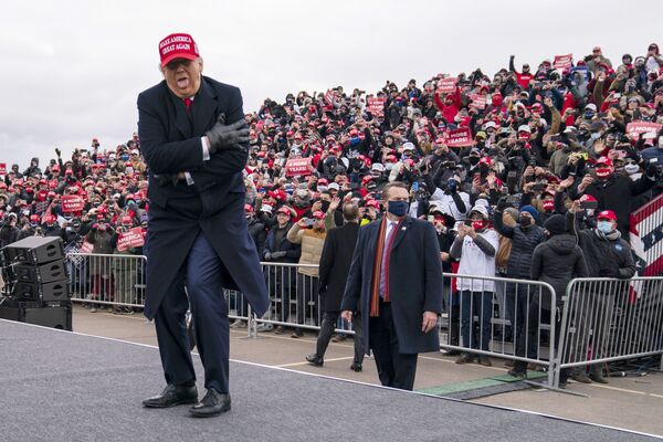
[[[144,255],[67,253],[72,301],[143,308],[146,263]]]

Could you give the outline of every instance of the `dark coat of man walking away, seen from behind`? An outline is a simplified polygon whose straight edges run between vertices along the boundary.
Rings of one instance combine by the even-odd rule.
[[[330,229],[320,255],[319,292],[325,312],[340,311],[340,301],[350,272],[359,224],[349,222]]]

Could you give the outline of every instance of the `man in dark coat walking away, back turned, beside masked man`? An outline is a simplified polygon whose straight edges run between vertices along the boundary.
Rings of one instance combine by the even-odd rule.
[[[308,355],[306,360],[314,366],[322,366],[325,361],[325,351],[336,328],[336,322],[340,316],[340,301],[350,264],[355,252],[355,244],[359,235],[359,208],[356,203],[347,203],[343,208],[345,224],[340,228],[330,229],[325,239],[319,267],[319,295],[323,307],[323,323],[318,334],[316,350]],[[361,371],[364,361],[364,345],[361,337],[361,324],[355,322],[355,358],[350,368]]]

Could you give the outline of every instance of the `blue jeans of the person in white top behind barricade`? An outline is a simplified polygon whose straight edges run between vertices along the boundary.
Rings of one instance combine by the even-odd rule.
[[[478,316],[478,324],[474,316]],[[493,292],[461,292],[461,337],[463,347],[488,350]]]

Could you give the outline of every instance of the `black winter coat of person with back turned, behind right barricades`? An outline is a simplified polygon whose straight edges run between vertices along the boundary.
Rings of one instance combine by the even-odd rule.
[[[573,277],[589,275],[582,249],[570,234],[558,234],[540,243],[532,254],[529,276],[532,281],[548,283],[555,290],[556,304],[561,304],[566,287]],[[540,306],[550,307],[550,294],[544,291]]]

